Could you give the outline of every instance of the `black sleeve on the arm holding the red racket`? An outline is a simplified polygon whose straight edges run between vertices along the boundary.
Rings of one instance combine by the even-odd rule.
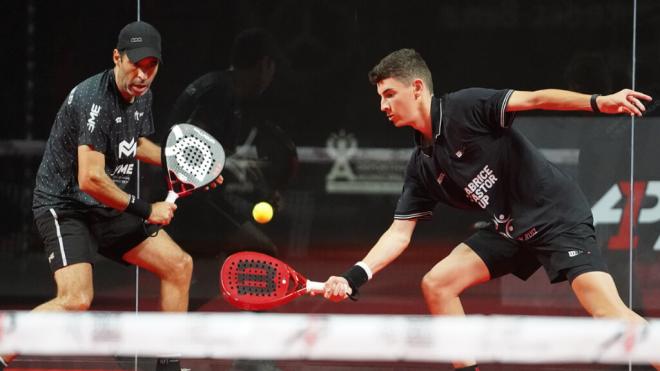
[[[427,220],[433,217],[433,209],[437,202],[431,198],[427,187],[421,180],[419,174],[421,167],[417,162],[415,152],[408,161],[403,190],[396,205],[394,219]]]

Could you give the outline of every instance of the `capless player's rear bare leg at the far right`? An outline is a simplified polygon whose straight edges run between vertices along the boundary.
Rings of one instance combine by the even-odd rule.
[[[583,273],[573,280],[571,287],[582,307],[593,317],[620,318],[635,323],[646,323],[644,318],[623,303],[609,273]],[[653,367],[660,370],[658,364],[654,364]]]

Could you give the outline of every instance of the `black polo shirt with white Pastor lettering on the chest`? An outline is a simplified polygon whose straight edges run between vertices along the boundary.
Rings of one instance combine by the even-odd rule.
[[[545,240],[591,217],[577,184],[550,163],[505,111],[512,90],[433,97],[433,143],[413,151],[395,219],[429,219],[438,202],[488,213],[496,230]]]

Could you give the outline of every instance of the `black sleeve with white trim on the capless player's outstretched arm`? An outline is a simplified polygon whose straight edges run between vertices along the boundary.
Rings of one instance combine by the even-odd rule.
[[[511,127],[515,117],[506,112],[513,90],[470,88],[447,96],[448,114],[476,131],[501,130]]]

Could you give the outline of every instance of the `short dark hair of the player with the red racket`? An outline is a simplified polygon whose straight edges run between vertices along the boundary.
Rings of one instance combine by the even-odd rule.
[[[431,71],[424,58],[414,49],[399,49],[392,52],[369,71],[369,81],[374,85],[390,77],[406,83],[410,83],[416,78],[422,79],[429,91],[433,93]]]

